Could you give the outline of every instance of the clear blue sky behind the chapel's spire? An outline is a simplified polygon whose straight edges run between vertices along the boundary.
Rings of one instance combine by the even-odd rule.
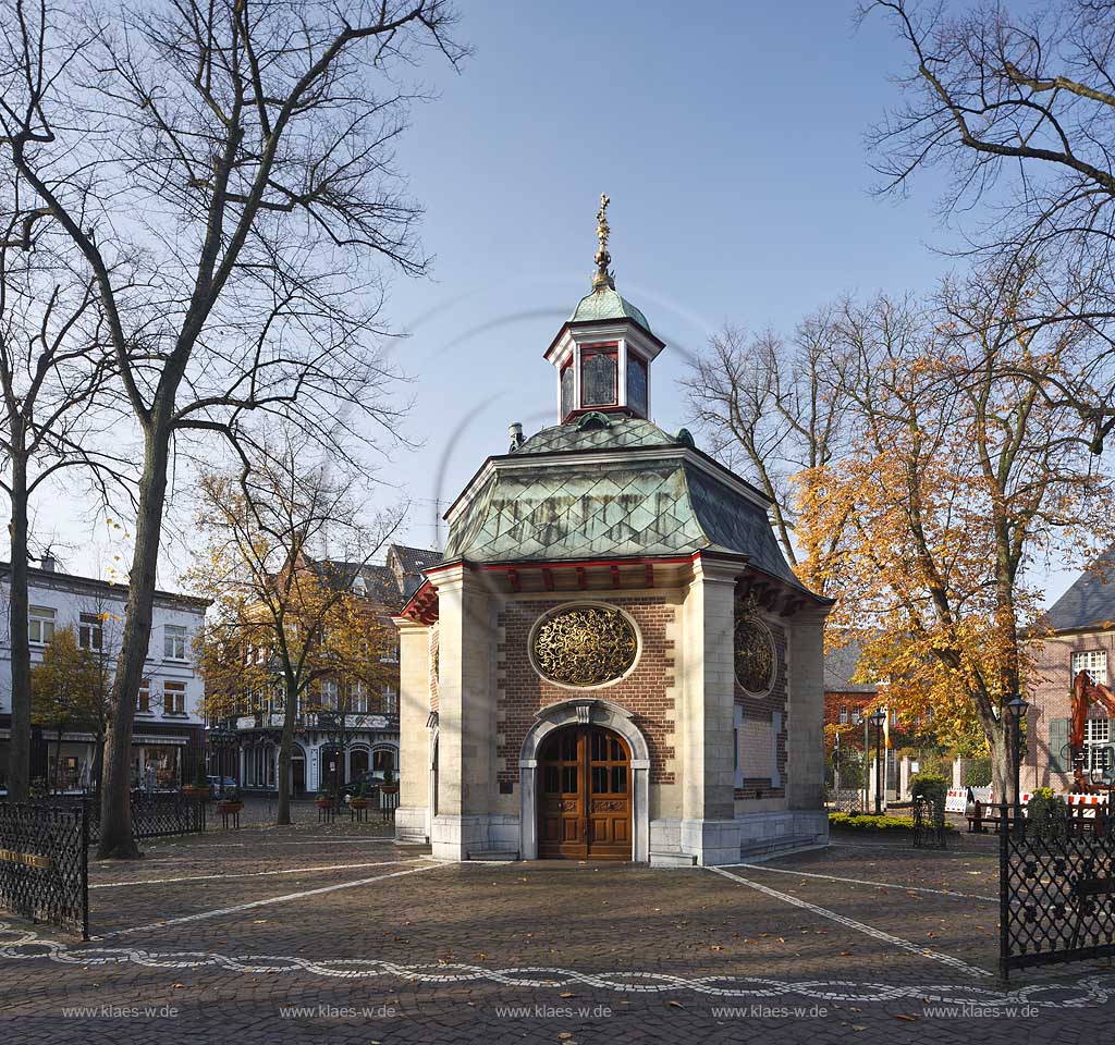
[[[940,185],[870,193],[864,135],[904,55],[883,19],[854,27],[851,0],[462,8],[475,53],[460,75],[424,67],[438,98],[398,150],[435,256],[387,305],[409,332],[392,349],[416,400],[405,430],[424,442],[380,470],[385,505],[414,499],[401,539],[437,539],[508,422],[555,422],[542,352],[589,291],[601,192],[617,289],[669,345],[653,377],[669,430],[687,421],[685,353],[726,321],[789,331],[843,293],[925,291],[948,268],[930,248],[948,242]]]

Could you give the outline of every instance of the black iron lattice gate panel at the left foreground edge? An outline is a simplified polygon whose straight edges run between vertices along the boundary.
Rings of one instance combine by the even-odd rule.
[[[83,804],[0,802],[0,908],[89,938]]]

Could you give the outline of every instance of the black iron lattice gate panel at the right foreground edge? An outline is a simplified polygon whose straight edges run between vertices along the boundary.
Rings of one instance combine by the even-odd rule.
[[[1015,819],[1004,804],[999,820],[1004,978],[1011,969],[1115,956],[1115,831],[1104,810],[1036,822]]]

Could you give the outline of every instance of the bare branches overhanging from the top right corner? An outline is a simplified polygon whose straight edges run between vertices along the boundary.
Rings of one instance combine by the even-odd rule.
[[[1074,371],[1021,375],[1051,406],[1076,410],[1101,452],[1115,427],[1115,4],[982,3],[949,17],[939,4],[872,0],[861,16],[873,9],[911,58],[899,78],[904,107],[871,136],[881,191],[946,167],[942,211],[960,216],[973,254],[1041,260],[1045,307],[1022,301],[1016,319],[1032,333],[1087,326],[1094,351]]]

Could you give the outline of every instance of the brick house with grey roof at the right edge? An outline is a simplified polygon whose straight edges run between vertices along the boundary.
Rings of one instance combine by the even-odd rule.
[[[1115,667],[1115,546],[1108,548],[1043,615],[1049,629],[1035,644],[1035,665],[1027,681],[1027,745],[1024,790],[1050,787],[1072,790],[1068,745],[1072,681],[1086,671],[1094,682],[1111,685]],[[1084,736],[1088,770],[1111,771],[1113,723],[1099,706],[1088,712]]]

